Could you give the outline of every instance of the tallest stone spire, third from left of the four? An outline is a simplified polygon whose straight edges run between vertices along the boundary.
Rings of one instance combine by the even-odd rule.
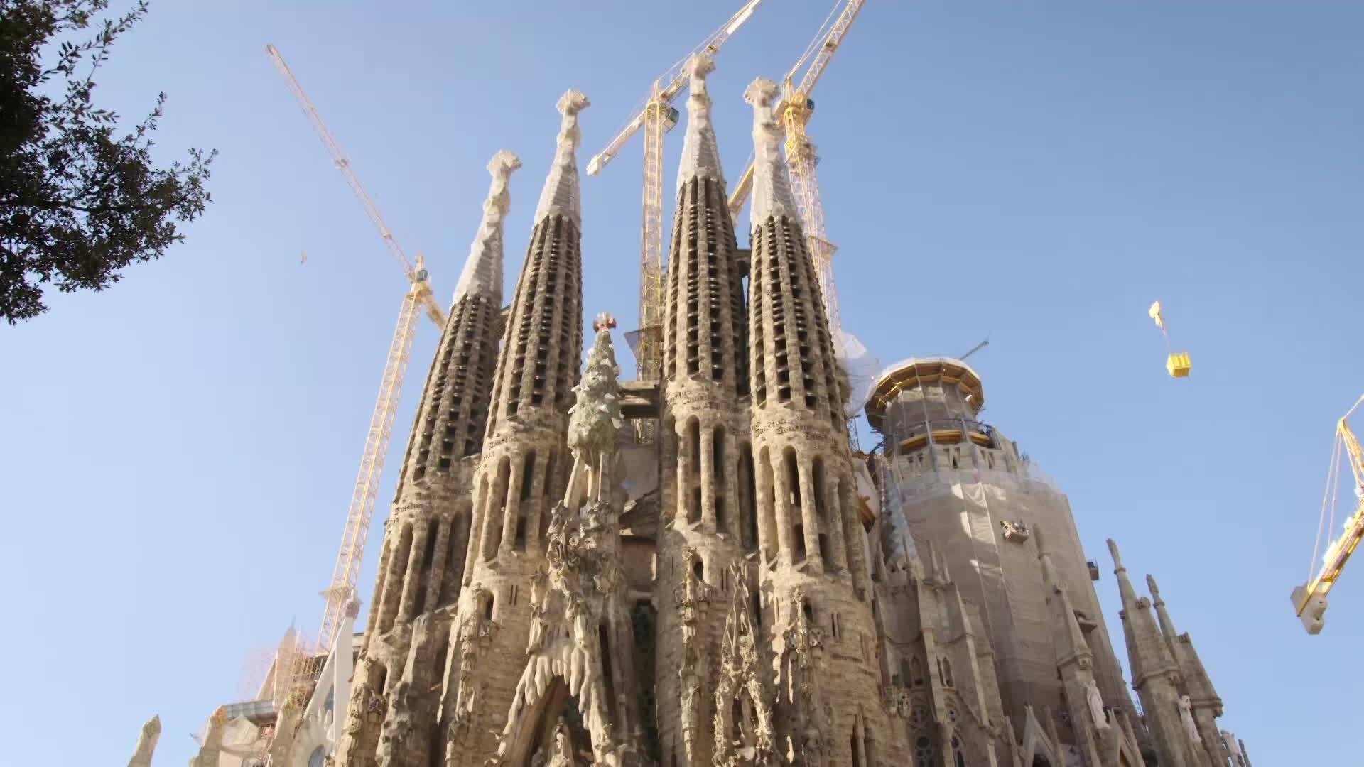
[[[662,393],[656,706],[659,742],[711,763],[713,689],[730,566],[757,551],[749,446],[743,272],[705,75],[687,63],[687,127],[668,250]]]

